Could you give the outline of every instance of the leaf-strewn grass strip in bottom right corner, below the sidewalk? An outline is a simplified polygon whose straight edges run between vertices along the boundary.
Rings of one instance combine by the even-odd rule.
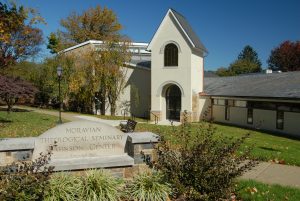
[[[300,189],[279,185],[268,185],[253,180],[240,180],[237,185],[237,194],[244,201],[300,200]]]

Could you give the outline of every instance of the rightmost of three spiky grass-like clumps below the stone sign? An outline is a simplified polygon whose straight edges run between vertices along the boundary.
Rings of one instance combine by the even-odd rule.
[[[164,201],[171,193],[169,184],[162,180],[158,172],[143,173],[134,177],[126,186],[129,200],[140,201]]]

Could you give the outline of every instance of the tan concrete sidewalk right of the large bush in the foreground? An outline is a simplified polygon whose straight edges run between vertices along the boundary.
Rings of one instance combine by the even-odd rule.
[[[300,188],[300,167],[261,162],[240,178]]]

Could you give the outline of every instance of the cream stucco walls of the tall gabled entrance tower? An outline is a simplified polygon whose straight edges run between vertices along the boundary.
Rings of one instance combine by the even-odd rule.
[[[192,96],[202,90],[202,57],[194,55],[171,17],[164,18],[151,49],[151,110],[160,111],[166,118],[164,87],[176,84],[182,90],[181,111],[192,111]],[[168,43],[179,46],[178,67],[164,67],[164,47]],[[199,53],[198,53],[199,54]]]

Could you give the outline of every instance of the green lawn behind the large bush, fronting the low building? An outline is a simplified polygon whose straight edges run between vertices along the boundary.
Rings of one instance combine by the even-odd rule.
[[[198,123],[192,124],[191,132],[196,135]],[[270,135],[264,132],[251,131],[247,129],[215,124],[216,133],[227,137],[238,138],[250,133],[245,146],[253,146],[251,155],[260,160],[283,160],[285,164],[300,166],[300,140],[293,140],[284,137]],[[152,131],[172,140],[172,127],[158,126],[152,124],[138,124],[138,131]],[[241,149],[242,151],[242,149]]]

